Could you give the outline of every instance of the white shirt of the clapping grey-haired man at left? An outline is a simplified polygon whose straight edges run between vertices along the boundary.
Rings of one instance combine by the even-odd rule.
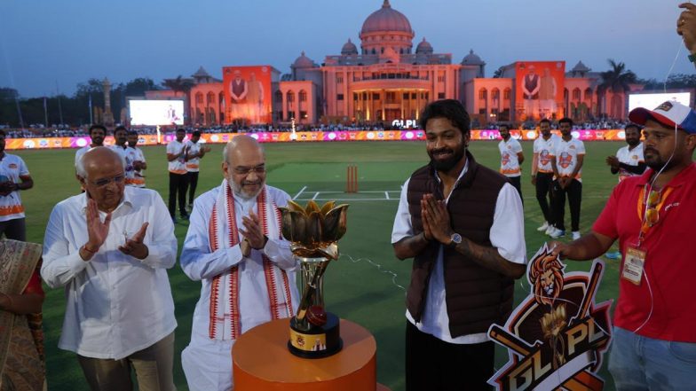
[[[53,207],[44,238],[41,277],[65,286],[66,311],[59,348],[81,356],[121,359],[153,345],[174,331],[174,301],[167,270],[177,261],[177,239],[170,213],[157,192],[126,186],[112,213],[105,243],[91,261],[80,257],[87,243],[82,193]],[[102,220],[106,216],[100,212]],[[118,246],[149,222],[138,260]]]

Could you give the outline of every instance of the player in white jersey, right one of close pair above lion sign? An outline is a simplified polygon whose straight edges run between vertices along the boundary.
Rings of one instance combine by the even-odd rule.
[[[585,145],[581,140],[571,135],[573,120],[562,118],[558,121],[558,129],[561,130],[561,139],[556,149],[551,153],[551,167],[553,168],[553,202],[555,228],[550,232],[550,237],[558,239],[566,235],[566,195],[570,207],[571,229],[573,240],[580,239],[580,204],[582,200],[582,161],[585,159]]]

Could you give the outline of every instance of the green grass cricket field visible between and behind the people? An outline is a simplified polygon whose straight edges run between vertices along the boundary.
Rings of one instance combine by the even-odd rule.
[[[583,168],[583,199],[581,231],[589,230],[605,204],[617,177],[609,173],[605,157],[614,154],[622,143],[587,143]],[[525,198],[527,254],[533,255],[548,238],[535,230],[543,217],[534,199],[529,183],[532,143],[524,142],[527,161],[524,164],[523,194]],[[340,242],[341,258],[333,262],[326,275],[325,291],[328,310],[366,327],[377,341],[377,379],[394,391],[405,388],[404,343],[405,291],[408,285],[410,261],[399,262],[390,244],[392,223],[396,213],[401,184],[410,173],[427,162],[421,142],[321,143],[265,145],[267,182],[297,195],[304,204],[306,199],[322,202],[340,199],[351,204],[348,213],[348,232]],[[162,198],[168,197],[168,176],[164,147],[145,147],[149,169],[147,186]],[[198,193],[218,186],[222,145],[213,145],[213,151],[202,160]],[[491,168],[497,168],[500,155],[495,142],[471,143],[471,152]],[[46,221],[51,208],[61,199],[79,192],[73,167],[75,151],[22,151],[19,154],[28,164],[34,178],[33,189],[22,192],[27,209],[28,240],[42,243]],[[359,167],[360,192],[344,193],[346,165]],[[566,212],[566,224],[570,215]],[[176,234],[179,246],[186,236],[187,222],[178,223]],[[566,271],[589,270],[589,262],[568,262]],[[605,278],[597,293],[597,301],[618,296],[618,267],[606,262]],[[186,379],[181,370],[180,353],[186,347],[191,333],[191,319],[198,300],[200,284],[190,281],[179,266],[169,271],[176,305],[178,328],[174,360],[175,382],[179,390],[186,390]],[[51,390],[86,390],[82,371],[75,354],[57,348],[65,302],[61,289],[46,288],[44,302],[44,332],[48,385]],[[518,282],[516,299],[526,296],[526,280]],[[507,361],[507,354],[499,348],[496,366]],[[606,389],[613,382],[603,364],[602,377]]]

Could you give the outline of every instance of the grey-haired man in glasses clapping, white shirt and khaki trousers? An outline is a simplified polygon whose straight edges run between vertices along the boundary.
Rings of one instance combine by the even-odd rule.
[[[41,276],[65,287],[59,348],[73,351],[93,390],[174,390],[174,302],[167,269],[177,239],[157,192],[125,187],[123,159],[107,147],[77,164],[85,192],[49,217]]]

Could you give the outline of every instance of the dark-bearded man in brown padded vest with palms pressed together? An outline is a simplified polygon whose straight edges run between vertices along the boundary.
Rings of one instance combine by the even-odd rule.
[[[414,258],[407,390],[490,389],[486,332],[510,315],[514,278],[526,270],[522,202],[467,151],[470,119],[459,101],[426,106],[420,125],[431,161],[404,184],[392,231],[396,256]]]

